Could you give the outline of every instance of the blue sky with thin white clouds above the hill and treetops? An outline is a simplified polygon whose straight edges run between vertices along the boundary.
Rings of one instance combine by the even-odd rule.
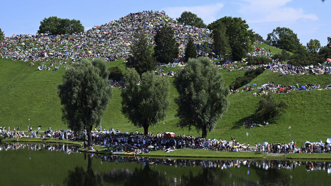
[[[172,18],[190,11],[206,24],[223,16],[241,17],[264,39],[276,27],[288,27],[303,45],[318,39],[324,46],[331,37],[331,0],[10,0],[1,2],[0,28],[6,37],[35,34],[42,19],[57,16],[78,19],[87,30],[143,10],[164,10]]]

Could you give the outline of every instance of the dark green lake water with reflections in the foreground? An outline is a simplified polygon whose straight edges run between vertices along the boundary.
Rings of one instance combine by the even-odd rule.
[[[73,145],[0,145],[1,185],[330,185],[331,163],[190,160],[78,153]]]

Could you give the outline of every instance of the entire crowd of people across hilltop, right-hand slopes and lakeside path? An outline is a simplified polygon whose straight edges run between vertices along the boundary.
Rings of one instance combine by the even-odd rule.
[[[70,65],[77,62],[81,58],[103,58],[107,62],[117,59],[127,60],[130,53],[130,46],[135,39],[137,29],[144,29],[146,35],[149,37],[149,45],[155,45],[153,35],[157,32],[159,26],[168,25],[174,31],[174,37],[179,44],[178,58],[171,64],[158,64],[154,73],[160,76],[173,76],[174,71],[163,72],[162,67],[175,67],[183,65],[183,57],[185,55],[184,49],[189,37],[194,39],[194,44],[197,47],[199,56],[203,56],[204,45],[210,45],[213,49],[210,33],[212,31],[205,28],[197,28],[190,25],[179,25],[176,21],[170,19],[165,12],[158,11],[143,11],[138,13],[131,13],[123,16],[118,20],[111,21],[101,26],[93,27],[86,32],[79,34],[61,34],[61,35],[14,35],[6,37],[0,41],[0,56],[2,58],[12,58],[15,60],[28,61],[30,65],[40,62],[39,70],[45,69],[59,70],[61,68],[69,69]],[[260,49],[255,47],[255,51],[247,53],[252,57],[256,55],[265,55],[271,58],[270,49]],[[292,66],[284,61],[272,59],[272,63],[260,65],[246,65],[244,59],[239,62],[223,61],[224,64],[213,62],[215,68],[219,70],[224,66],[225,69],[232,71],[234,69],[256,69],[263,67],[272,72],[281,73],[281,75],[304,75],[304,74],[331,74],[330,62],[319,64],[318,66]],[[242,64],[242,65],[239,65]],[[122,81],[110,80],[109,86],[123,88]],[[254,86],[254,85],[253,85]],[[329,89],[331,85],[324,88],[316,84],[307,85],[279,85],[274,82],[268,82],[263,85],[244,87],[241,91],[232,90],[231,93],[249,92],[253,89],[253,96],[259,96],[269,93],[289,93],[293,90],[313,90],[313,89]],[[244,126],[254,127],[252,124],[244,123]],[[52,131],[47,130],[40,133],[40,130],[32,131],[28,129],[29,135],[21,131],[19,127],[14,130],[0,128],[0,134],[4,138],[56,138],[67,140],[80,140],[85,136],[82,133],[75,133],[69,130],[66,131]],[[325,143],[308,143],[304,146],[297,147],[295,142],[291,143],[266,143],[256,144],[255,148],[249,144],[240,144],[235,139],[230,141],[217,139],[201,139],[199,137],[185,136],[184,134],[177,137],[166,137],[164,134],[149,134],[144,136],[139,133],[119,133],[114,130],[95,131],[93,132],[93,139],[95,145],[113,146],[113,153],[128,152],[133,154],[148,153],[151,150],[175,150],[178,148],[196,148],[209,150],[226,150],[226,151],[260,151],[260,152],[330,152],[330,142]]]

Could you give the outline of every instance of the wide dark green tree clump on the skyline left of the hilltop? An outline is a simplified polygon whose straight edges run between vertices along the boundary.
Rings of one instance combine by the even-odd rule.
[[[40,21],[38,34],[76,34],[84,32],[84,26],[80,20],[76,19],[63,19],[57,16],[50,16]]]

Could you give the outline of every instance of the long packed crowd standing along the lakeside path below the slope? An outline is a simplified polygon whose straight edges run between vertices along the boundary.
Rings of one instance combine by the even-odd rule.
[[[8,127],[9,128],[9,127]],[[2,127],[1,127],[2,129]],[[29,136],[24,134],[24,131],[10,131],[1,130],[0,134],[4,138],[56,138],[56,139],[66,139],[71,141],[85,140],[86,132],[73,132],[70,130],[60,130],[52,131],[50,128],[43,133],[37,134],[31,133]],[[185,134],[180,134],[178,136],[167,136],[165,133],[158,133],[154,135],[153,133],[148,133],[147,136],[143,133],[121,133],[118,130],[110,128],[109,131],[106,129],[92,131],[92,138],[94,145],[101,145],[107,147],[107,150],[112,153],[126,153],[126,154],[145,154],[151,150],[164,150],[170,152],[181,148],[190,149],[206,149],[215,151],[248,151],[248,152],[262,152],[262,153],[328,153],[331,152],[331,138],[327,139],[325,143],[322,142],[309,142],[301,144],[301,147],[297,146],[296,141],[291,141],[290,143],[256,143],[255,145],[250,145],[249,143],[241,144],[236,139],[231,138],[231,140],[219,139],[203,139],[196,136],[186,136]],[[84,143],[84,147],[86,143]],[[92,147],[88,147],[92,150]]]

